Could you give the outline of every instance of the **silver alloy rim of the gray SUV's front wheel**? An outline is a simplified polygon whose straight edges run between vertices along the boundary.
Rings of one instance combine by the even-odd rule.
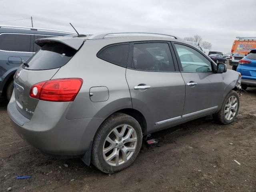
[[[238,108],[238,100],[235,96],[231,96],[225,105],[224,115],[226,120],[230,121],[234,118],[237,112],[237,108]]]

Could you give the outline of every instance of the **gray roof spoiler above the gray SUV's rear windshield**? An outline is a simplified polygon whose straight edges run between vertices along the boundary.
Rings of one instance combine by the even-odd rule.
[[[84,44],[85,40],[83,38],[76,38],[72,36],[51,37],[35,40],[35,43],[38,44],[40,47],[50,42],[59,42],[75,50],[78,50],[82,46],[82,44]]]

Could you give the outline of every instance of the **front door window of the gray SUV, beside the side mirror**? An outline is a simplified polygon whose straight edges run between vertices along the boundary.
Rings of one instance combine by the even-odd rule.
[[[211,62],[200,52],[180,44],[175,47],[184,72],[212,72]]]

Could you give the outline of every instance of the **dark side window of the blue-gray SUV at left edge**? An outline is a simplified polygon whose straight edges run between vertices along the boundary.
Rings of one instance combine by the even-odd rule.
[[[1,34],[0,50],[30,52],[31,36],[26,34]]]

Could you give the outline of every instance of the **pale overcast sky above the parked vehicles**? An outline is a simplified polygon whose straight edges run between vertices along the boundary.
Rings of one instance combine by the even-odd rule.
[[[230,52],[236,36],[256,36],[256,0],[0,0],[0,21],[33,17],[34,27],[72,31],[198,34]],[[0,25],[31,26],[30,20]]]

